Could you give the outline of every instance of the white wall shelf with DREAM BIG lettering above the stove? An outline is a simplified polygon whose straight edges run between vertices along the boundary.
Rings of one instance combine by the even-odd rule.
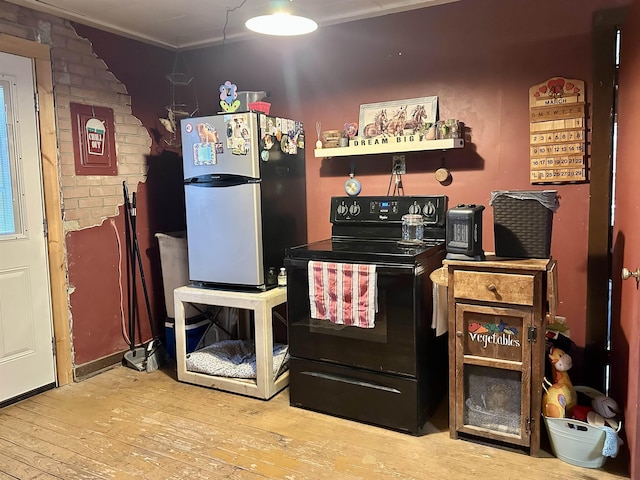
[[[446,138],[443,140],[421,140],[407,142],[403,137],[389,137],[388,143],[368,145],[366,140],[362,144],[348,147],[316,148],[313,152],[316,158],[347,157],[352,155],[375,155],[378,153],[421,152],[424,150],[449,150],[464,147],[462,138]],[[373,141],[373,139],[372,139]]]

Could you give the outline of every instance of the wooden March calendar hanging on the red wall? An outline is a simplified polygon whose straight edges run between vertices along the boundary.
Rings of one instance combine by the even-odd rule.
[[[584,81],[552,77],[529,89],[532,184],[586,181],[585,119]]]

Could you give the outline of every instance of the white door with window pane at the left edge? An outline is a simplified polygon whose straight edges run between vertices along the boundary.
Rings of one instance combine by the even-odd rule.
[[[0,402],[55,384],[31,59],[0,52]]]

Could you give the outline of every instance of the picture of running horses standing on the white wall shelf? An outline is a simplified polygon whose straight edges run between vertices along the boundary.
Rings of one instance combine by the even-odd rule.
[[[360,105],[360,137],[399,136],[420,131],[434,123],[438,115],[438,97],[409,98]]]

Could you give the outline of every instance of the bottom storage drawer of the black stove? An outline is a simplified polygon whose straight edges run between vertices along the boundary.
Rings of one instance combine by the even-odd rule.
[[[414,435],[421,433],[427,420],[427,412],[418,411],[415,378],[295,357],[289,369],[289,401],[294,407]]]

